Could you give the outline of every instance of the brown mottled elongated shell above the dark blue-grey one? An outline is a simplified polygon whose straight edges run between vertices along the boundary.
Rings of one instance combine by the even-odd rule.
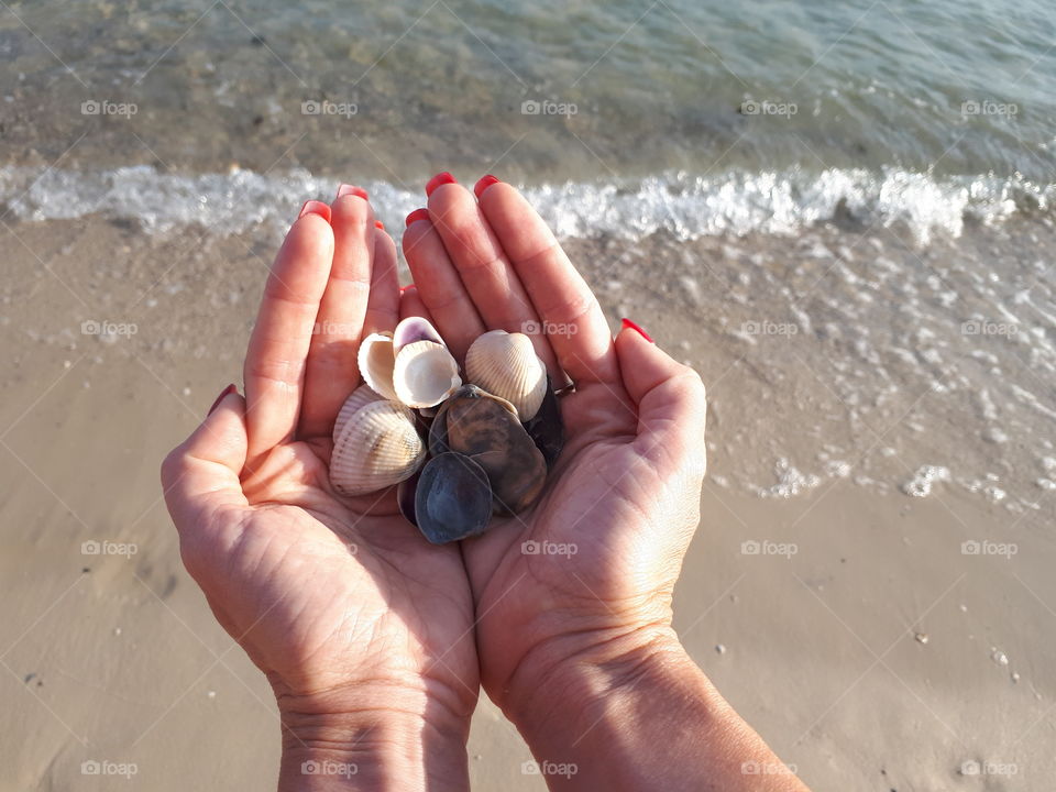
[[[499,399],[453,398],[444,420],[447,448],[484,469],[498,513],[517,514],[536,502],[547,481],[546,459]]]

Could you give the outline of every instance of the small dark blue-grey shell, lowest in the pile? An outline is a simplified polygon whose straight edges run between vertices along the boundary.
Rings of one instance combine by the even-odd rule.
[[[469,457],[442,453],[421,469],[415,492],[418,529],[433,544],[483,534],[492,517],[492,487]]]

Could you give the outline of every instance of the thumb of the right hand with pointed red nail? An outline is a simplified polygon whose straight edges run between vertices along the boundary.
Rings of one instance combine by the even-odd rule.
[[[624,388],[638,407],[638,451],[662,470],[703,476],[707,397],[701,376],[627,320],[616,337],[616,356]]]

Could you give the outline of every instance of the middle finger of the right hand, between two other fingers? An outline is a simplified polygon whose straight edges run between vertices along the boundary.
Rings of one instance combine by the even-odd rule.
[[[536,354],[557,377],[553,350],[546,336],[534,330],[539,327],[536,308],[473,195],[460,184],[435,187],[429,217],[487,329],[527,332]]]

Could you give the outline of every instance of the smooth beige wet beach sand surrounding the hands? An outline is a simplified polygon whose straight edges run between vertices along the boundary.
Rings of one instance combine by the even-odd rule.
[[[183,570],[157,466],[240,381],[273,251],[98,219],[0,238],[0,790],[268,789],[270,690]],[[648,294],[603,293],[603,304],[614,326],[629,306],[662,344],[694,338],[684,311]],[[85,321],[128,334],[84,334]],[[681,356],[708,381],[727,352],[694,344]],[[711,388],[719,410],[746,376]],[[710,442],[722,449],[729,424]],[[723,474],[722,454],[711,474]],[[676,627],[816,790],[1049,790],[1046,507],[1016,517],[954,487],[911,498],[849,480],[758,498],[712,481]],[[92,541],[127,547],[92,554]],[[972,541],[1008,552],[971,554]],[[543,789],[485,698],[469,754],[479,789]],[[90,762],[133,782],[86,776]]]

